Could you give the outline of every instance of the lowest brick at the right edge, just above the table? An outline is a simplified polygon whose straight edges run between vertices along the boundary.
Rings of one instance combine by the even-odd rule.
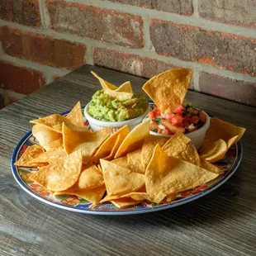
[[[256,82],[249,83],[201,72],[199,88],[201,92],[256,107]]]

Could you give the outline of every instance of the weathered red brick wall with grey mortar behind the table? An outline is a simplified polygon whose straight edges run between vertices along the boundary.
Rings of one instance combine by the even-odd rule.
[[[189,67],[192,90],[256,107],[256,0],[0,0],[0,18],[5,104],[87,63]]]

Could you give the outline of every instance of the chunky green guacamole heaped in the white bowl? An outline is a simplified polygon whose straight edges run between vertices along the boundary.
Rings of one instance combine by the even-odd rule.
[[[132,98],[121,102],[101,90],[92,96],[88,113],[100,121],[126,121],[142,115],[148,107],[144,95],[134,93]]]

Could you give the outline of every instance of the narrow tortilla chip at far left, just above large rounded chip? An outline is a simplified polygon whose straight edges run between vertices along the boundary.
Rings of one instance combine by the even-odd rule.
[[[67,157],[64,149],[50,149],[43,154],[40,154],[36,159],[31,160],[32,163],[49,163],[53,164],[58,159],[64,159]]]

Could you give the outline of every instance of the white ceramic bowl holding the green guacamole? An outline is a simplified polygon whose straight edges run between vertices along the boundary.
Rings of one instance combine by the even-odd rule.
[[[143,115],[137,116],[127,121],[99,121],[93,118],[92,116],[90,116],[90,114],[88,113],[88,106],[89,106],[89,103],[88,105],[86,105],[86,107],[84,107],[84,116],[88,120],[91,129],[93,131],[96,131],[96,130],[101,130],[108,126],[112,126],[113,127],[112,133],[120,129],[122,126],[126,126],[126,125],[128,125],[129,129],[132,130],[135,126],[139,125],[143,121],[143,119],[145,118],[145,116],[148,115],[148,112],[149,112],[149,107],[148,107]]]

